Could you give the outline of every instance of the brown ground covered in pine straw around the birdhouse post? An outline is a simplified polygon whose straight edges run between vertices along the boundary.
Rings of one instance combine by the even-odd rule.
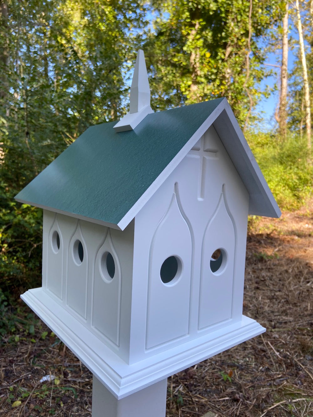
[[[312,287],[313,204],[252,219],[243,310],[267,331],[169,377],[167,417],[312,417]],[[90,372],[39,320],[0,349],[1,417],[87,417],[91,389]]]

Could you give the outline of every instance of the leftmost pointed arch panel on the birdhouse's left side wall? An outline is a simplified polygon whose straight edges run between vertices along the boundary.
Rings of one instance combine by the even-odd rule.
[[[58,236],[58,238],[57,238]],[[63,293],[64,241],[58,222],[58,215],[54,216],[48,237],[48,257],[46,276],[49,276],[47,288],[59,299]]]

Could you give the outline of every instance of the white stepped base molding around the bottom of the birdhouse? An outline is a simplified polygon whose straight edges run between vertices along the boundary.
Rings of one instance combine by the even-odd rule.
[[[242,316],[235,324],[129,365],[42,288],[28,290],[21,298],[116,399],[265,332],[255,320]]]

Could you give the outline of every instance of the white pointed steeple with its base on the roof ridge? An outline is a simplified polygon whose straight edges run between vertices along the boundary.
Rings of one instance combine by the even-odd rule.
[[[114,126],[116,132],[133,130],[147,114],[153,113],[150,107],[150,88],[143,50],[138,51],[136,58],[129,101],[129,112]]]

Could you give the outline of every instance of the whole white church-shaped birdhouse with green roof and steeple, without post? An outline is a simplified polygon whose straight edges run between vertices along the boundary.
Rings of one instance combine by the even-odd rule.
[[[265,331],[242,315],[247,216],[280,210],[225,98],[152,112],[142,51],[129,113],[16,199],[43,208],[22,299],[116,399]]]

